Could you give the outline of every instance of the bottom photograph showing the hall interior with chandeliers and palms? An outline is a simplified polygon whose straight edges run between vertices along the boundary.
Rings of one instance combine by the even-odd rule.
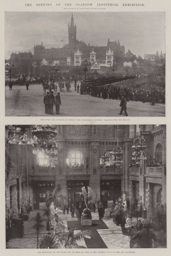
[[[6,248],[166,248],[166,125],[6,125]]]

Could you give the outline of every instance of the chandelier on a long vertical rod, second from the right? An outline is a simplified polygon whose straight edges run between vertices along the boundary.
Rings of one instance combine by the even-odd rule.
[[[121,147],[119,146],[119,125],[118,125],[117,132],[118,132],[117,145],[116,145],[116,147],[114,147],[114,149],[112,151],[112,162],[113,162],[113,165],[122,167],[123,151],[122,151]]]

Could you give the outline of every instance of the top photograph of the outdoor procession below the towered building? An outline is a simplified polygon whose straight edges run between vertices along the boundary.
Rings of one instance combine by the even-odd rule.
[[[165,12],[5,12],[6,116],[165,116]]]

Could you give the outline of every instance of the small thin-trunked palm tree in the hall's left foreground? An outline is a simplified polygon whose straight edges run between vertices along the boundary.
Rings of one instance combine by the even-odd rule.
[[[44,225],[45,218],[38,211],[38,213],[34,217],[32,217],[32,220],[35,223],[31,226],[31,229],[35,230],[35,233],[37,233],[37,249],[38,249],[38,235],[39,235],[39,232],[41,232],[41,230],[45,228],[45,225]]]

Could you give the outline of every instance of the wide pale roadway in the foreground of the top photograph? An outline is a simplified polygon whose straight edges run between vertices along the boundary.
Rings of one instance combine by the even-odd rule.
[[[13,86],[12,91],[9,90],[9,86],[6,86],[6,116],[52,116],[44,113],[43,93],[41,84],[30,84],[28,91],[26,86]],[[104,100],[91,95],[80,95],[77,91],[75,92],[73,83],[70,92],[65,88],[60,95],[62,101],[60,116],[120,116],[118,114],[121,109],[120,100]],[[129,101],[127,112],[128,116],[165,116],[165,105],[151,106],[148,102]],[[56,116],[55,106],[53,113]],[[125,116],[124,113],[122,116]]]

